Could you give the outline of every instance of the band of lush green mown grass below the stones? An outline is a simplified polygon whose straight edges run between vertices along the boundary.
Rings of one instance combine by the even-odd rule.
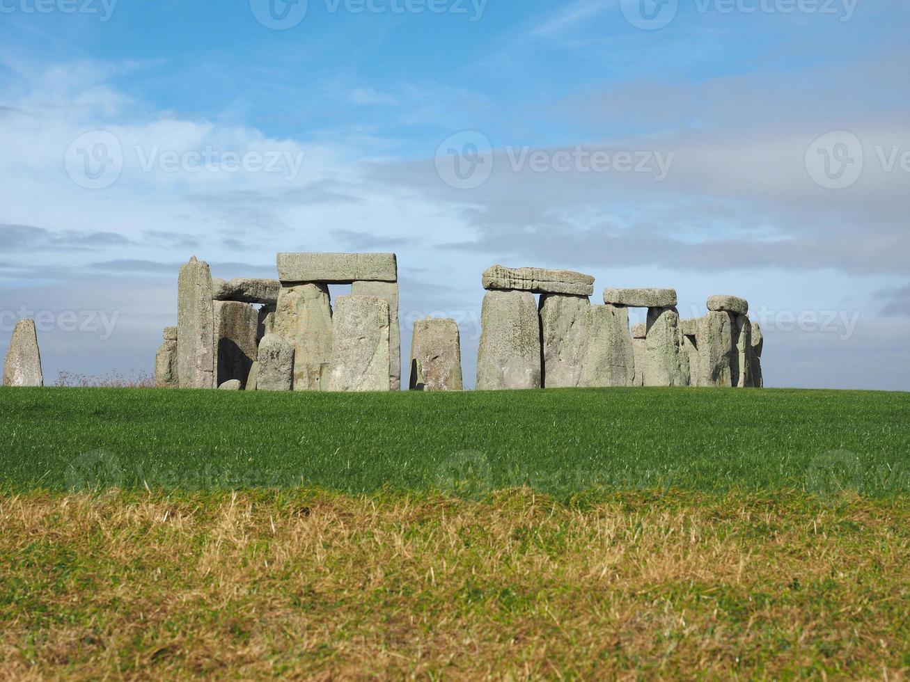
[[[910,490],[910,394],[0,389],[0,487]]]

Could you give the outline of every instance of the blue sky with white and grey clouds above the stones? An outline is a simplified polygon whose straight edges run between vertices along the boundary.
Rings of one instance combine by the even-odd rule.
[[[149,371],[189,256],[748,298],[768,386],[910,387],[905,0],[0,0],[0,345]],[[333,296],[344,294],[335,287]],[[597,296],[594,298],[597,301]]]

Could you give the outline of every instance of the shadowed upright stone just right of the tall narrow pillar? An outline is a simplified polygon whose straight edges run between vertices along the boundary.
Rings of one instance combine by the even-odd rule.
[[[239,301],[214,301],[215,382],[214,386],[237,379],[246,386],[249,368],[258,355],[258,310]]]

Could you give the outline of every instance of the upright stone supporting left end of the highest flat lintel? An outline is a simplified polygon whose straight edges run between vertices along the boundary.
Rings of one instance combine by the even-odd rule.
[[[329,286],[286,286],[278,295],[275,333],[296,347],[294,390],[318,391],[323,366],[332,359],[332,305]]]

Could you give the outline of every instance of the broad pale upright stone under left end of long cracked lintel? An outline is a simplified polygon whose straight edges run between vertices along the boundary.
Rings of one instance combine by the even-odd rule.
[[[489,291],[480,313],[477,389],[541,387],[541,320],[530,291]]]

